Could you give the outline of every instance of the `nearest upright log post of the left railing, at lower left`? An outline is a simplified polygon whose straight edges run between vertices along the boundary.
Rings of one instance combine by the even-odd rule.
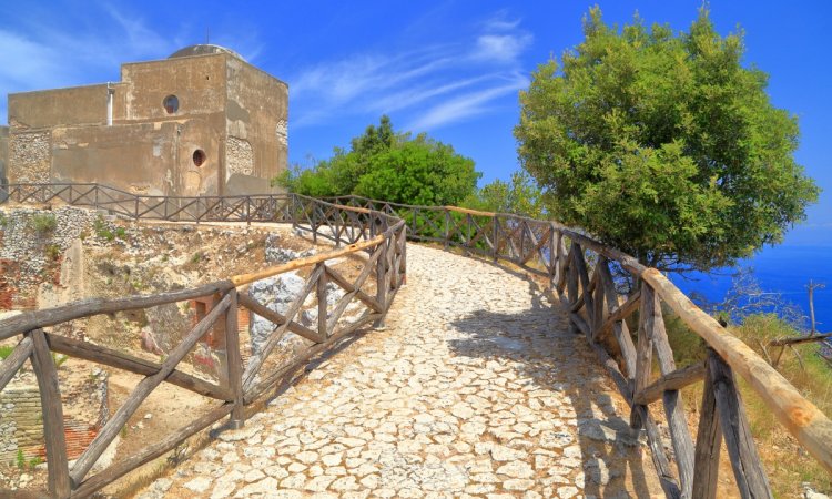
[[[43,439],[47,446],[49,493],[54,498],[69,498],[72,482],[67,460],[67,437],[63,432],[63,405],[58,384],[58,370],[49,352],[43,329],[29,333],[32,338],[32,367],[40,389],[40,407],[43,415]]]

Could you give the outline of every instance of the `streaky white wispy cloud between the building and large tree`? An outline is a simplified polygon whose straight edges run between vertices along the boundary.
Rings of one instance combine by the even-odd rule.
[[[505,12],[454,42],[404,53],[372,51],[302,68],[288,78],[292,125],[333,115],[398,112],[419,132],[470,119],[528,85],[520,58],[532,37]]]

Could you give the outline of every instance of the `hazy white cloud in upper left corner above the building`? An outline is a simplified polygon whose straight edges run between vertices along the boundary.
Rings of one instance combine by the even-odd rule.
[[[118,79],[121,63],[164,59],[204,39],[187,23],[159,26],[105,2],[85,4],[83,11],[69,6],[26,11],[0,27],[0,123],[8,93]],[[233,45],[250,61],[262,50],[256,33],[234,39]]]

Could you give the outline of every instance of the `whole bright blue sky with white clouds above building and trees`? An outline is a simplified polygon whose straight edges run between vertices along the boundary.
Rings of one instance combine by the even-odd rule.
[[[347,145],[387,113],[473,157],[484,182],[516,170],[517,92],[538,63],[580,42],[588,1],[8,2],[0,9],[0,121],[9,92],[119,78],[121,62],[226,45],[290,85],[290,161]],[[687,29],[700,1],[599,1],[608,22],[636,10]],[[747,63],[801,124],[798,160],[824,189],[793,244],[832,246],[832,2],[710,2],[717,29],[744,29]]]

